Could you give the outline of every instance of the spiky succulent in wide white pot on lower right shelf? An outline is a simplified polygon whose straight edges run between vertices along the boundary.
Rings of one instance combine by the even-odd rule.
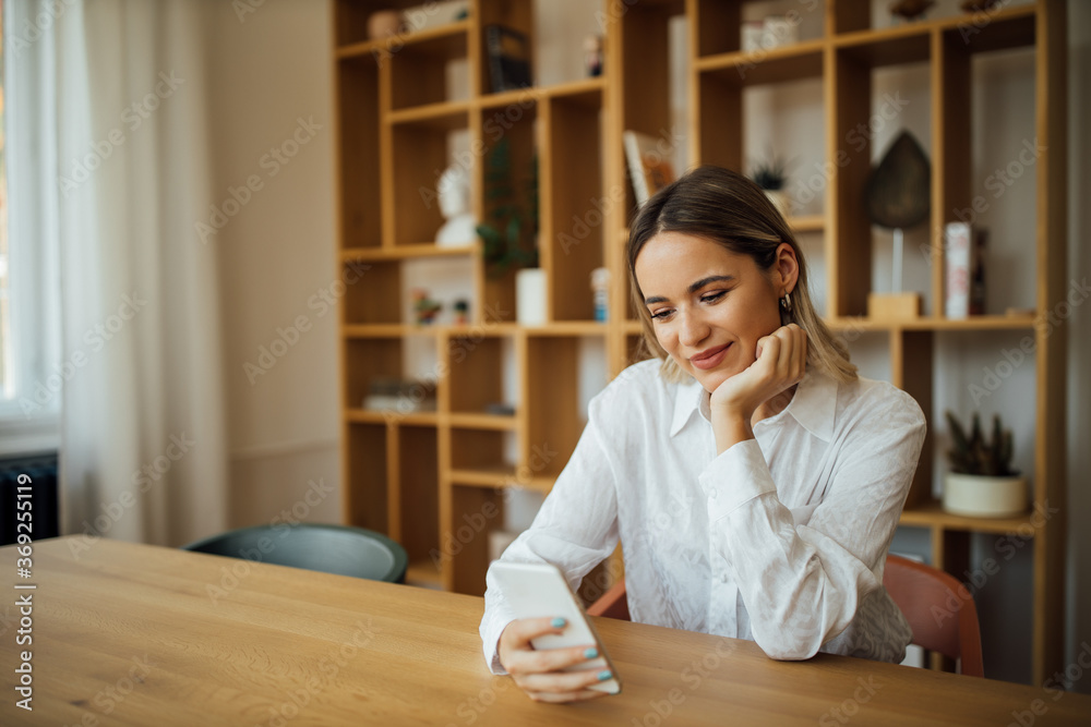
[[[944,481],[944,510],[955,514],[999,518],[1027,509],[1027,478],[1011,469],[1011,431],[993,416],[992,438],[981,431],[973,414],[969,436],[951,412],[947,412],[952,448],[947,452],[951,470]]]

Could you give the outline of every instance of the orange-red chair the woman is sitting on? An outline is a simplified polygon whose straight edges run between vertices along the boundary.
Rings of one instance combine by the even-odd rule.
[[[942,570],[901,556],[887,557],[883,585],[913,629],[914,644],[960,658],[967,676],[985,676],[978,609],[972,596],[963,598],[959,594],[966,592],[966,586]],[[587,613],[630,620],[625,581],[607,591]]]

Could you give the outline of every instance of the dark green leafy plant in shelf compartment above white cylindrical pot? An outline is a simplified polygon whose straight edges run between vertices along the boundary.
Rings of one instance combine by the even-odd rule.
[[[484,242],[489,274],[500,277],[513,268],[538,267],[538,249],[525,240],[538,233],[538,157],[530,162],[524,194],[516,191],[512,147],[507,137],[485,155],[484,195],[490,222],[477,226]],[[529,227],[530,234],[526,234]],[[502,232],[503,231],[503,232]]]

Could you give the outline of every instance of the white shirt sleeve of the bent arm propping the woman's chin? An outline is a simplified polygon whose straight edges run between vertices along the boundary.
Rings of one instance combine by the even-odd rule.
[[[720,453],[699,475],[708,497],[710,608],[734,609],[738,589],[754,639],[772,658],[810,658],[882,587],[882,561],[925,436],[920,407],[897,393],[831,443],[837,465],[805,525],[779,499],[753,439]],[[721,582],[731,584],[720,594],[730,603],[717,603]]]

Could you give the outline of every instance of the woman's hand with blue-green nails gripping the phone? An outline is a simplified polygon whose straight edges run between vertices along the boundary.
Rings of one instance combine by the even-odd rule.
[[[561,621],[560,626],[554,626]],[[563,633],[564,619],[520,618],[512,621],[500,634],[500,663],[527,696],[536,702],[576,702],[607,692],[588,689],[610,678],[609,671],[561,671],[573,664],[583,664],[599,656],[595,644],[565,649],[536,650],[531,639],[548,633]]]

